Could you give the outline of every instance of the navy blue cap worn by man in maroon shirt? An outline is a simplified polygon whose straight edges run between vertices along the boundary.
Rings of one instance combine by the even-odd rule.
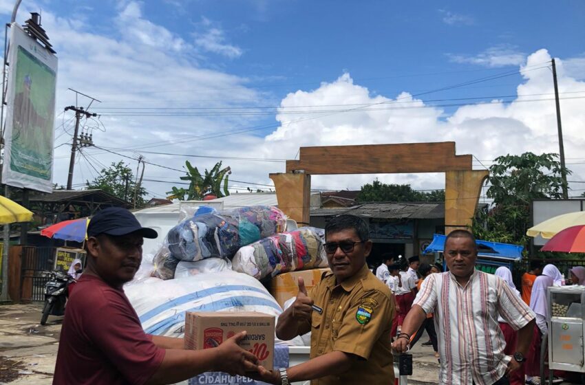
[[[101,210],[89,220],[87,236],[108,234],[114,236],[139,232],[144,238],[156,238],[158,233],[151,228],[143,228],[138,219],[129,210],[121,207],[109,207]]]

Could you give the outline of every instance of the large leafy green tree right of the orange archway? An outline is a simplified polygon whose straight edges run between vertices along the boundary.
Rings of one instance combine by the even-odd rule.
[[[489,168],[487,197],[493,205],[480,210],[473,231],[478,239],[517,243],[528,247],[526,230],[530,225],[533,199],[562,198],[563,180],[558,155],[505,155]],[[566,170],[566,174],[571,171]]]

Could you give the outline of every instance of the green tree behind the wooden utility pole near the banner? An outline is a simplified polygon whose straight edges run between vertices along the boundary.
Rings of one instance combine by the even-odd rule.
[[[136,178],[131,168],[123,161],[118,163],[112,162],[109,168],[103,168],[101,170],[101,174],[98,177],[93,181],[86,181],[85,184],[88,190],[99,188],[134,206]],[[147,195],[147,190],[140,186],[136,192],[136,207],[144,206],[145,195]]]

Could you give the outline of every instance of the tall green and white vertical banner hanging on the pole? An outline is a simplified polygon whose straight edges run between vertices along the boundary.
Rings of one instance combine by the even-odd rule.
[[[52,192],[57,57],[10,28],[2,183]]]

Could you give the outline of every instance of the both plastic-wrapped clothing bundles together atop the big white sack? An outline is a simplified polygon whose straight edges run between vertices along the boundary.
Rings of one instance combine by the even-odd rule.
[[[232,261],[233,270],[257,279],[326,266],[323,230],[285,228],[286,216],[275,207],[199,208],[167,234],[154,258],[155,276],[171,279],[213,258]]]

